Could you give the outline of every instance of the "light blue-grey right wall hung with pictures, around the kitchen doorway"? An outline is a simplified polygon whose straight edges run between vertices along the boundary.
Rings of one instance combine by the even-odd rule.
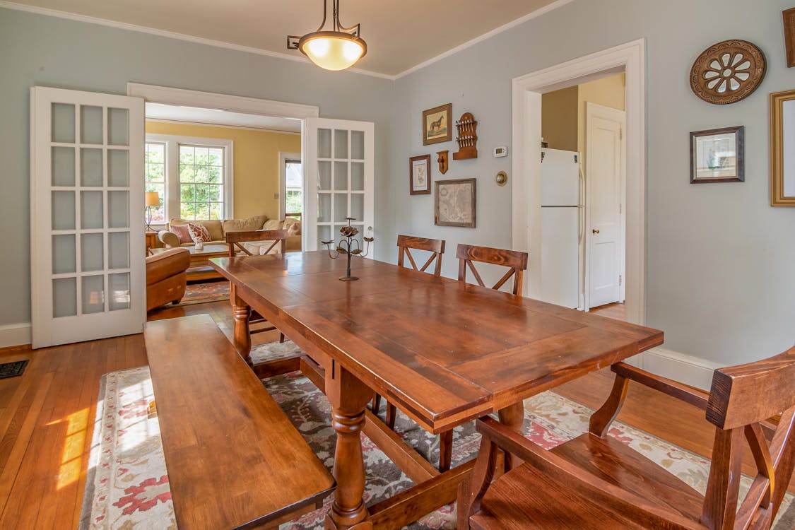
[[[647,323],[665,346],[720,364],[778,353],[795,342],[795,208],[769,206],[767,95],[795,88],[786,68],[781,10],[790,0],[576,0],[467,48],[395,83],[394,196],[397,230],[510,247],[511,185],[494,175],[511,159],[493,158],[511,142],[510,81],[566,60],[646,38]],[[754,42],[768,73],[750,98],[702,102],[688,74],[704,48],[729,38]],[[444,176],[477,177],[478,227],[434,226],[432,195],[409,195],[408,157],[456,150],[423,146],[421,111],[452,103],[479,121],[475,161],[451,161]],[[688,132],[746,126],[746,182],[689,184]],[[511,175],[511,182],[513,176]],[[533,250],[531,250],[533,252]],[[445,256],[444,274],[456,275]]]

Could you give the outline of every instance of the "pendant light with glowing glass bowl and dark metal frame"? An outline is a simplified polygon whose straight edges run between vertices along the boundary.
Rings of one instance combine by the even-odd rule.
[[[304,37],[289,35],[287,48],[300,50],[314,64],[326,70],[351,68],[367,52],[367,43],[359,38],[359,24],[350,28],[339,23],[339,0],[332,0],[332,31],[323,31],[328,10],[323,0],[323,22],[314,33]]]

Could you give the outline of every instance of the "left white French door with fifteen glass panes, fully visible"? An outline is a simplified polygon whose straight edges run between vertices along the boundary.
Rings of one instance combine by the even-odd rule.
[[[143,99],[33,87],[30,101],[33,347],[139,333]]]

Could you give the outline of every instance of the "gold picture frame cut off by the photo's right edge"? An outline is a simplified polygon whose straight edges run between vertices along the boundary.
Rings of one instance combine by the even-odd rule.
[[[770,95],[770,206],[795,206],[795,90]]]

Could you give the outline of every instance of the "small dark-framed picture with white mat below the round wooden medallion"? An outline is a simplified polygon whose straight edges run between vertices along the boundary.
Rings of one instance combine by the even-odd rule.
[[[690,133],[690,182],[743,182],[745,127]]]

